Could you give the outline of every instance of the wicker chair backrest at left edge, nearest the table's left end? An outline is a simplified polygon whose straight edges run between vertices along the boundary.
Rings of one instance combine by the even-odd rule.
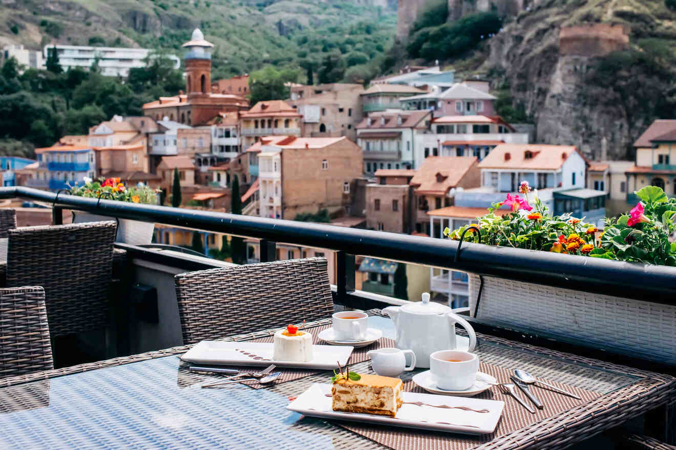
[[[0,378],[52,368],[45,290],[0,289]]]

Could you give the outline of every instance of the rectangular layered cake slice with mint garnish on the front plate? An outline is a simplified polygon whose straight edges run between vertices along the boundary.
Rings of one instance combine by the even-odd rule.
[[[331,388],[333,410],[394,417],[402,405],[403,387],[399,378],[341,370]]]

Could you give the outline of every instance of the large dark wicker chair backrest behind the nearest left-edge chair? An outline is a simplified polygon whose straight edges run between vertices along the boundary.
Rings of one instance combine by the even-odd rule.
[[[41,285],[51,337],[109,325],[114,221],[9,230],[7,285]]]

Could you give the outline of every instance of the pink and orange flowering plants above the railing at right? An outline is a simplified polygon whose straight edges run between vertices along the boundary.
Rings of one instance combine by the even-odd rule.
[[[459,240],[466,229],[477,227],[481,244],[676,266],[676,243],[669,242],[669,235],[676,229],[676,198],[667,198],[662,189],[648,186],[636,192],[642,201],[629,215],[606,219],[602,232],[570,214],[552,216],[537,192],[531,206],[529,192],[527,181],[523,181],[519,193],[524,198],[507,194],[504,202],[494,203],[477,223],[454,231],[446,228],[443,233]],[[510,207],[510,213],[496,214],[503,205]],[[479,242],[473,229],[465,237]]]

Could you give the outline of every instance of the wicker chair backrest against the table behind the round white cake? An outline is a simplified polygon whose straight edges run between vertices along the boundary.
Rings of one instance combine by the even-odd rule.
[[[333,314],[325,258],[181,273],[175,280],[184,344]]]

